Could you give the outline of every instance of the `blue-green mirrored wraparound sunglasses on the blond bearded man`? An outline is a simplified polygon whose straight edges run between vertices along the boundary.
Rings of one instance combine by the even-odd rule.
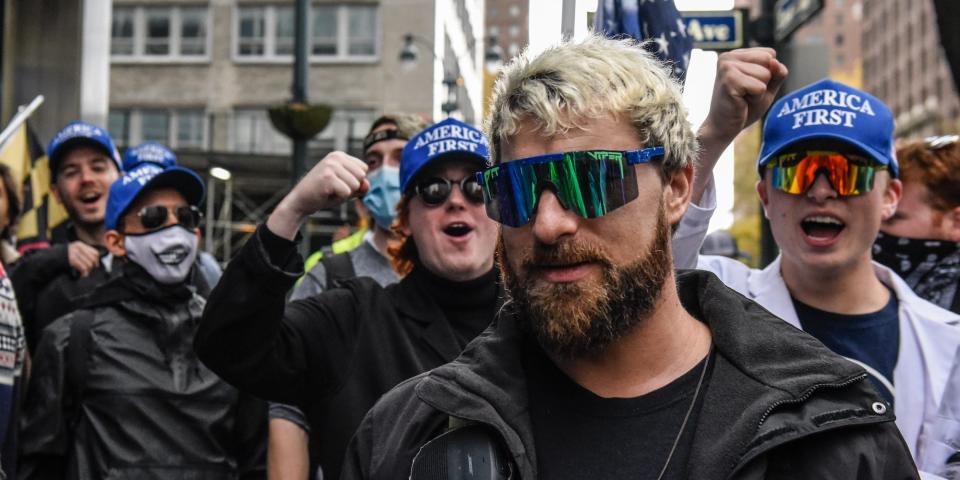
[[[487,215],[509,227],[533,218],[547,188],[563,208],[597,218],[637,198],[637,174],[631,166],[663,155],[663,147],[552,153],[490,167],[477,173],[477,182]]]

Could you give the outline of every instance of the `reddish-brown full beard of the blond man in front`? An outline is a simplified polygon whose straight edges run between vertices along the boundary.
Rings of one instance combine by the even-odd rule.
[[[510,268],[502,239],[497,261],[504,286],[520,313],[520,328],[532,334],[546,351],[565,359],[596,358],[647,318],[673,261],[669,228],[662,207],[657,215],[651,248],[639,260],[617,267],[598,245],[562,242],[534,245],[520,261],[521,275]],[[598,283],[536,283],[537,265],[596,262],[603,273]]]

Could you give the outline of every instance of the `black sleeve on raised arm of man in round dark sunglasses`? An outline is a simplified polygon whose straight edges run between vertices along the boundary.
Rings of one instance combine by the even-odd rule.
[[[210,293],[194,342],[200,359],[271,401],[303,405],[338,388],[357,338],[360,300],[340,289],[286,305],[302,273],[296,244],[261,226]]]

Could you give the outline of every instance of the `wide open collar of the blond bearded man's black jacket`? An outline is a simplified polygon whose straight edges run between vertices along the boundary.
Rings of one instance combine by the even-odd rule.
[[[758,449],[788,438],[778,438],[779,433],[802,435],[815,429],[784,429],[771,421],[780,406],[803,410],[800,407],[812,405],[810,397],[820,389],[850,385],[858,389],[852,398],[877,398],[862,381],[860,367],[729,289],[712,273],[680,273],[677,285],[684,307],[710,327],[716,350],[694,437],[691,478],[724,478]],[[535,478],[535,452],[527,451],[533,438],[522,368],[525,340],[514,315],[505,308],[457,360],[423,377],[416,391],[448,415],[493,425],[514,453],[522,477]],[[858,412],[870,407],[866,401],[839,405]],[[807,422],[816,413],[823,412],[804,412],[792,420]],[[733,421],[710,420],[718,418]],[[880,420],[891,419],[887,415]]]

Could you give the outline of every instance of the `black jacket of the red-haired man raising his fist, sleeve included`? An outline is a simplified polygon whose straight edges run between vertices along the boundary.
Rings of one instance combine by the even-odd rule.
[[[466,341],[421,288],[418,268],[387,287],[356,278],[285,304],[302,274],[296,244],[261,227],[211,293],[195,346],[241,390],[300,407],[324,478],[337,478],[350,438],[377,399],[453,360]]]

